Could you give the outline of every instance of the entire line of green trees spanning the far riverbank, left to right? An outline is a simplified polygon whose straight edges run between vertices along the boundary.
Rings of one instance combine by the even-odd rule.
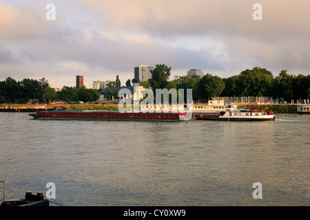
[[[271,96],[290,102],[291,100],[310,99],[310,75],[304,76],[298,74],[288,74],[287,70],[282,70],[279,76],[273,77],[273,74],[260,67],[246,69],[236,76],[229,78],[220,78],[212,74],[199,76],[175,76],[169,80],[172,67],[165,64],[158,64],[151,70],[152,78],[142,82],[146,88],[152,88],[154,95],[155,89],[192,89],[192,98],[194,101],[205,102],[211,97],[218,96]],[[126,86],[132,86],[139,83],[139,80],[133,78],[126,81]],[[118,75],[116,80],[110,82],[107,87],[121,87],[121,80]],[[107,98],[117,96],[117,91],[107,93]],[[186,93],[185,93],[186,96]],[[63,102],[94,102],[99,99],[98,90],[86,89],[80,90],[76,87],[64,86],[61,91],[55,91],[50,88],[48,80],[41,78],[33,80],[25,78],[16,81],[10,77],[0,81],[0,102],[25,102],[31,99],[38,99],[40,102],[52,102],[53,100],[62,100]]]

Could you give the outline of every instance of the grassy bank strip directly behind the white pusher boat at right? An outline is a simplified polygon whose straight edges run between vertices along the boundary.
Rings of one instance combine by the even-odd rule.
[[[296,104],[247,104],[240,107],[249,110],[266,110],[266,108],[269,108],[268,110],[274,113],[296,113],[297,111]]]

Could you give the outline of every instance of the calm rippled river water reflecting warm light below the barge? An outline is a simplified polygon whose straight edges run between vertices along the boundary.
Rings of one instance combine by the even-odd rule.
[[[309,206],[310,115],[271,122],[43,121],[0,113],[6,194],[63,206]],[[262,199],[254,199],[260,182]]]

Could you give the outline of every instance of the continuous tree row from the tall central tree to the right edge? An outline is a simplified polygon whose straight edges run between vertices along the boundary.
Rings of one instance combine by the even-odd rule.
[[[218,96],[271,96],[282,100],[310,99],[310,75],[287,74],[282,70],[279,76],[260,67],[246,69],[236,76],[220,78],[212,74],[199,76],[175,76],[168,81],[171,67],[156,65],[151,70],[152,78],[144,85],[155,89],[192,89],[194,101],[205,102],[211,97]]]

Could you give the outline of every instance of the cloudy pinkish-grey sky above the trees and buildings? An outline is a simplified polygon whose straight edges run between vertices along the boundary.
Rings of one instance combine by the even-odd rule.
[[[55,20],[46,19],[48,3]],[[262,20],[252,17],[262,5]],[[40,79],[52,87],[121,83],[134,65],[189,69],[227,78],[255,66],[277,76],[309,74],[310,1],[1,0],[0,80]]]

